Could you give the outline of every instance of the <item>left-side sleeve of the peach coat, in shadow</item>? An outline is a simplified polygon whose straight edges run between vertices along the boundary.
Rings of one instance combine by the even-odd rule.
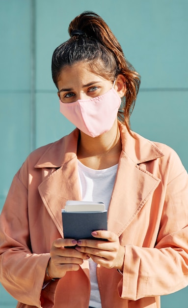
[[[53,307],[56,282],[42,290],[49,253],[32,253],[27,187],[14,177],[0,215],[0,282],[19,302]]]

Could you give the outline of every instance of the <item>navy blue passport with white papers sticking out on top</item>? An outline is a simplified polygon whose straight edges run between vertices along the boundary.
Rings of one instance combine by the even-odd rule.
[[[96,239],[91,232],[107,230],[107,210],[103,202],[67,201],[62,222],[65,239]]]

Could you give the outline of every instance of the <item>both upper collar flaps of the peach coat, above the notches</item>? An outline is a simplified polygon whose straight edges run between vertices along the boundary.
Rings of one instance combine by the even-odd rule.
[[[163,156],[159,148],[148,139],[134,133],[132,137],[125,125],[119,122],[122,139],[122,152],[135,164],[150,161]],[[59,168],[76,156],[80,130],[76,128],[69,135],[51,144],[40,157],[35,168]]]

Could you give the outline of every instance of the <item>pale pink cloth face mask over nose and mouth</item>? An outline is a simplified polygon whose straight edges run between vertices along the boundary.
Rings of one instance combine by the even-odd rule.
[[[73,103],[60,102],[60,112],[82,132],[97,137],[112,127],[121,105],[121,98],[112,88],[107,93]]]

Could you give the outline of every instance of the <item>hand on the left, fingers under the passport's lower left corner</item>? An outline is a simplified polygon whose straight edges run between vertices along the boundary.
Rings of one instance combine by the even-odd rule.
[[[65,248],[65,246],[75,246],[76,240],[73,239],[57,239],[54,241],[48,263],[48,273],[51,278],[61,278],[65,276],[67,271],[78,271],[83,260],[89,259],[86,253],[77,251],[75,248]],[[46,275],[45,280],[50,280]]]

